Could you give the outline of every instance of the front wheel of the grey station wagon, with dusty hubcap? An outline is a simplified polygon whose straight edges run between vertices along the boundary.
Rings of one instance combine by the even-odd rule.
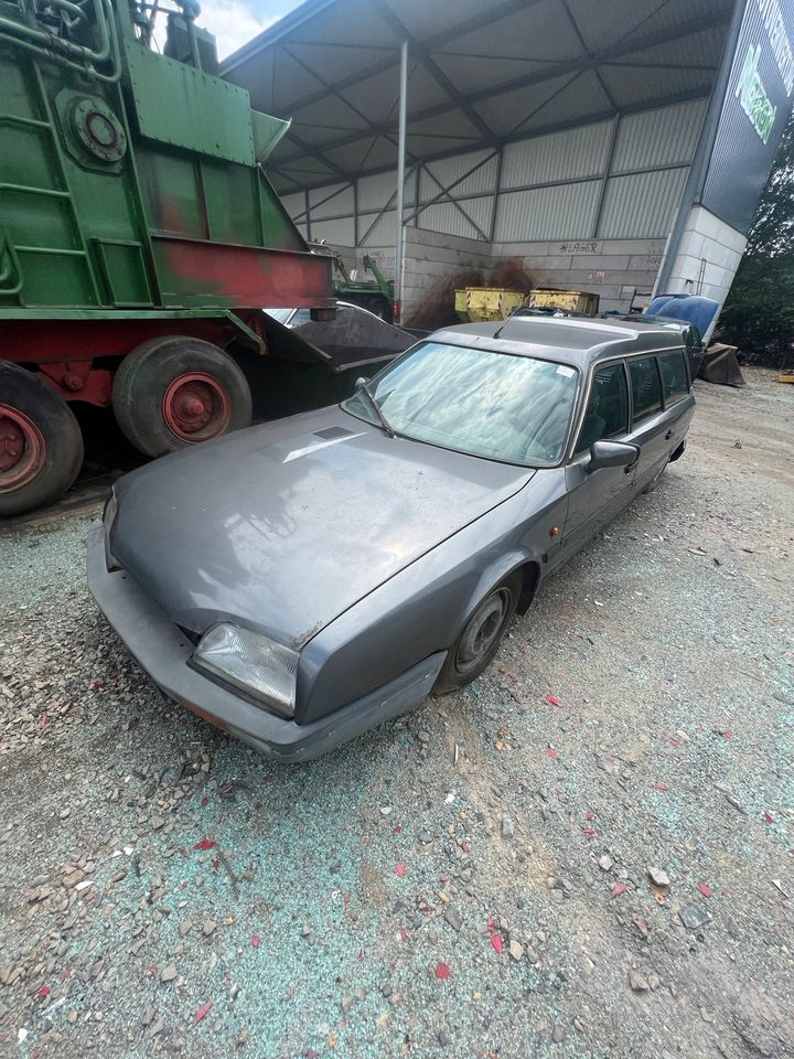
[[[447,659],[433,685],[433,695],[457,692],[471,684],[487,668],[515,613],[521,591],[522,576],[516,571],[500,581],[480,600],[447,652]]]

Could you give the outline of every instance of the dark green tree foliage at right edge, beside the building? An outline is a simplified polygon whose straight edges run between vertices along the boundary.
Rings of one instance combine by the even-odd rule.
[[[719,336],[776,366],[794,356],[794,119],[783,133],[759,201],[720,315]]]

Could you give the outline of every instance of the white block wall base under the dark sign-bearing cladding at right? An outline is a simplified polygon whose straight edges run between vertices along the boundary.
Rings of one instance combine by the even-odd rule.
[[[670,276],[669,291],[702,295],[720,306],[728,297],[747,237],[705,206],[693,206]]]

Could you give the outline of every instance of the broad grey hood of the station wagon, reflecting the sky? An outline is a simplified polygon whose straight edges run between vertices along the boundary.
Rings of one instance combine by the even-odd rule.
[[[110,546],[183,628],[299,646],[533,474],[322,409],[126,475]]]

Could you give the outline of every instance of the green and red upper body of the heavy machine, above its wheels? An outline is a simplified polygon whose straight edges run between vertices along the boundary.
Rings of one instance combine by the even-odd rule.
[[[0,319],[325,303],[330,284],[256,162],[288,122],[191,65],[192,23],[171,20],[180,62],[138,40],[139,0],[0,7],[0,35],[19,23],[18,44],[0,43]]]

